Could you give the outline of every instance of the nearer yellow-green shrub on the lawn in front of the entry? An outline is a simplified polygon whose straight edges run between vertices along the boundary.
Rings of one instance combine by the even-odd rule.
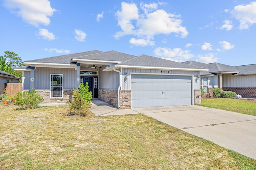
[[[67,102],[70,110],[75,115],[86,116],[89,113],[88,108],[91,106],[90,103],[84,100],[78,90],[73,91],[73,96],[73,100],[68,100]]]

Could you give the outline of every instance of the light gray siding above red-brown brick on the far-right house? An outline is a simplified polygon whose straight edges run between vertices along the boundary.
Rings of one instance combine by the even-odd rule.
[[[256,87],[256,75],[232,76],[222,74],[223,87]]]

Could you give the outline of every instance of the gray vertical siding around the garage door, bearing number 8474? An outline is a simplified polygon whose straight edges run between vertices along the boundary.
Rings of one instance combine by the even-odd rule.
[[[169,73],[161,73],[161,70],[155,69],[139,69],[139,68],[123,68],[122,69],[122,90],[131,90],[131,73],[148,73],[148,74],[161,74],[161,75],[191,75],[193,78],[194,89],[200,89],[200,80],[196,80],[196,75],[199,76],[197,71],[180,71],[180,70],[167,70]],[[125,78],[125,73],[128,74],[128,78]]]

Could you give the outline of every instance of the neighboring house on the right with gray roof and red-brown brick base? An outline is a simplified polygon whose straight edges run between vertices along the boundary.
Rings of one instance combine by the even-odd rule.
[[[243,98],[256,98],[256,64],[229,66],[220,63],[204,64],[186,61],[185,64],[207,68],[201,72],[201,88],[206,93],[214,87],[236,92]]]

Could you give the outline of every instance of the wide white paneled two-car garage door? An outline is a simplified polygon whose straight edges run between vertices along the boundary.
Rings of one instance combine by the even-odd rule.
[[[191,76],[132,75],[133,108],[191,103]]]

